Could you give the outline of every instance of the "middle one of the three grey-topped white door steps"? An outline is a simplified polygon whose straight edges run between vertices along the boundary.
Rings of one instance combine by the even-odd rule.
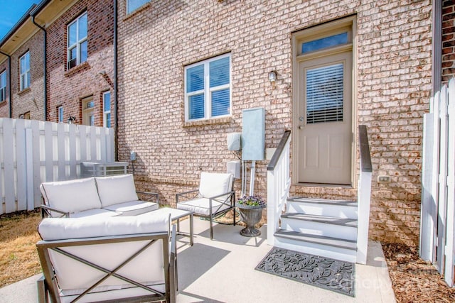
[[[317,216],[313,214],[282,214],[282,229],[314,236],[357,240],[357,220]]]

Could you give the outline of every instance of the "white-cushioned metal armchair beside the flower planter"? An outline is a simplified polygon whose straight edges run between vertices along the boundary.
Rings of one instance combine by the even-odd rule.
[[[210,239],[213,239],[213,219],[235,209],[233,182],[231,174],[201,172],[199,189],[176,194],[177,209],[208,218]],[[235,225],[235,215],[232,224]]]

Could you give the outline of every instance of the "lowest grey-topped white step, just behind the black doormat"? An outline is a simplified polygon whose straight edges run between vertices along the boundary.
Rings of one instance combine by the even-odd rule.
[[[274,233],[274,246],[352,263],[355,263],[357,253],[357,243],[355,241],[310,235],[296,231],[280,230]]]

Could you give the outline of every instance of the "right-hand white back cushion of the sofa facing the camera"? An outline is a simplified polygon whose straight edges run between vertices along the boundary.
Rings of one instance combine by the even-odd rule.
[[[133,175],[96,177],[102,207],[139,200]]]

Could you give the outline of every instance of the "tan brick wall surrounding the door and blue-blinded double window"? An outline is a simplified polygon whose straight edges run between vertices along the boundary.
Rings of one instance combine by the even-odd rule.
[[[431,91],[428,0],[151,1],[131,16],[119,1],[119,160],[137,152],[138,187],[172,205],[176,192],[198,184],[201,170],[225,171],[235,160],[226,134],[241,131],[242,109],[266,109],[266,148],[276,147],[293,125],[291,33],[353,14],[353,108],[355,122],[368,126],[373,155],[370,238],[417,243],[422,115]],[[185,123],[184,66],[226,52],[232,56],[232,116]],[[278,71],[274,87],[270,70]],[[266,165],[257,163],[255,192],[263,196]],[[378,175],[390,175],[391,182],[378,184]],[[355,187],[291,190],[350,199]]]

